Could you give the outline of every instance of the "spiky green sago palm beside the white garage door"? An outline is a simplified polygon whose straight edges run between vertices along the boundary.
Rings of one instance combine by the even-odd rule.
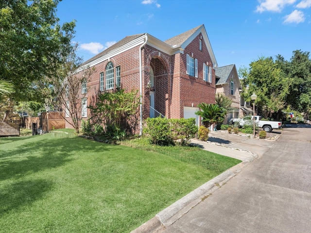
[[[195,114],[203,118],[203,124],[207,128],[213,123],[223,122],[225,119],[225,108],[219,107],[217,104],[200,103],[198,104],[198,107],[201,111],[197,111]]]

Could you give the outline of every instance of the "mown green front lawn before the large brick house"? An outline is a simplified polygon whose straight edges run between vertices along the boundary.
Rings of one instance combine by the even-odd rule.
[[[225,165],[207,169],[209,156],[224,157],[108,145],[63,131],[0,138],[1,233],[130,232],[218,175],[219,167],[240,162],[219,159]]]

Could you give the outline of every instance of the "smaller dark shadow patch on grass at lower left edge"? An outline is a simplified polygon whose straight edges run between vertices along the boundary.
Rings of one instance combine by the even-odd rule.
[[[42,198],[51,188],[52,183],[42,179],[4,186],[0,189],[0,216]]]

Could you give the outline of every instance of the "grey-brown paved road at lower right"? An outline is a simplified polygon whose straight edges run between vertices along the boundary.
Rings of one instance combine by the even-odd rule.
[[[310,232],[311,128],[285,128],[282,137],[258,160],[164,230]]]

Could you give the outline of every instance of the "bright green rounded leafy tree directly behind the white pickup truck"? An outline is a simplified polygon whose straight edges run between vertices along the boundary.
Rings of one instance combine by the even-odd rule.
[[[242,97],[251,101],[251,95],[255,93],[256,106],[261,115],[269,117],[274,115],[279,119],[281,111],[286,106],[286,97],[290,93],[291,79],[272,57],[260,57],[250,64],[249,69],[239,69],[242,77]],[[287,83],[284,85],[284,83]]]

